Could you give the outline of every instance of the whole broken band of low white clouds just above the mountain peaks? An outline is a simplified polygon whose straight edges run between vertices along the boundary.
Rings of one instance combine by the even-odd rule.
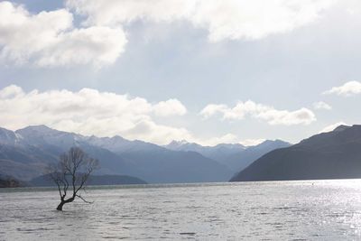
[[[48,125],[52,128],[84,135],[121,135],[130,140],[169,144],[172,140],[216,145],[224,143],[259,144],[264,139],[242,141],[236,134],[199,138],[182,126],[167,123],[171,116],[184,116],[187,108],[176,98],[151,103],[143,97],[131,97],[92,88],[79,91],[24,91],[15,85],[0,89],[0,126],[16,130],[27,125]],[[221,115],[228,120],[252,116],[270,125],[308,125],[315,120],[310,110],[276,110],[252,101],[236,107],[208,105],[204,117]],[[156,121],[155,121],[156,119]]]

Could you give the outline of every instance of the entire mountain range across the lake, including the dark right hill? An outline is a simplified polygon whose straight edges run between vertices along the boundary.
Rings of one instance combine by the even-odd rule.
[[[228,181],[232,176],[231,181],[361,178],[361,125],[340,125],[299,144],[275,140],[250,147],[186,141],[160,146],[45,125],[17,131],[0,128],[0,177],[36,180],[72,146],[99,160],[101,169],[95,174],[102,183],[119,184],[125,176],[148,183]]]

